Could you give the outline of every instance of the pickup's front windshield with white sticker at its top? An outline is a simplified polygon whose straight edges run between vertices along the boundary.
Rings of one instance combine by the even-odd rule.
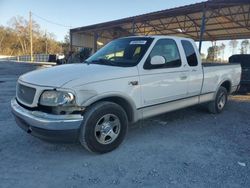
[[[131,37],[121,38],[108,43],[86,60],[86,63],[104,64],[110,66],[137,65],[153,38]]]

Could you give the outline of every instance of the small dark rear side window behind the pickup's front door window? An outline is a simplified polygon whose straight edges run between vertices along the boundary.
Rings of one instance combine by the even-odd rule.
[[[191,67],[197,66],[198,65],[197,56],[196,56],[196,53],[194,51],[194,47],[191,44],[191,42],[189,42],[187,40],[182,40],[181,44],[184,48],[188,65]]]

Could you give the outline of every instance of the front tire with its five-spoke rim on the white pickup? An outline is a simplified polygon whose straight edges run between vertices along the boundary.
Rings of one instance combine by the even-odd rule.
[[[91,152],[106,153],[122,143],[127,129],[128,118],[123,108],[116,103],[102,101],[84,114],[79,140]]]

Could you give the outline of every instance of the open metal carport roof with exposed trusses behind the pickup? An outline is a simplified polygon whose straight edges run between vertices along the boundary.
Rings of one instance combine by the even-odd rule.
[[[175,35],[200,41],[250,38],[250,0],[209,0],[70,30],[71,49],[131,35]]]

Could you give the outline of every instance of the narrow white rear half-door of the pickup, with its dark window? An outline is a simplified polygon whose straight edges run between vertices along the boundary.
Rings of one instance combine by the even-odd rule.
[[[182,47],[185,53],[185,61],[187,62],[187,67],[189,71],[189,81],[187,87],[187,96],[197,96],[200,95],[202,81],[203,81],[203,71],[201,60],[197,57],[199,53],[196,48],[194,48],[195,43],[189,40],[181,40]]]

